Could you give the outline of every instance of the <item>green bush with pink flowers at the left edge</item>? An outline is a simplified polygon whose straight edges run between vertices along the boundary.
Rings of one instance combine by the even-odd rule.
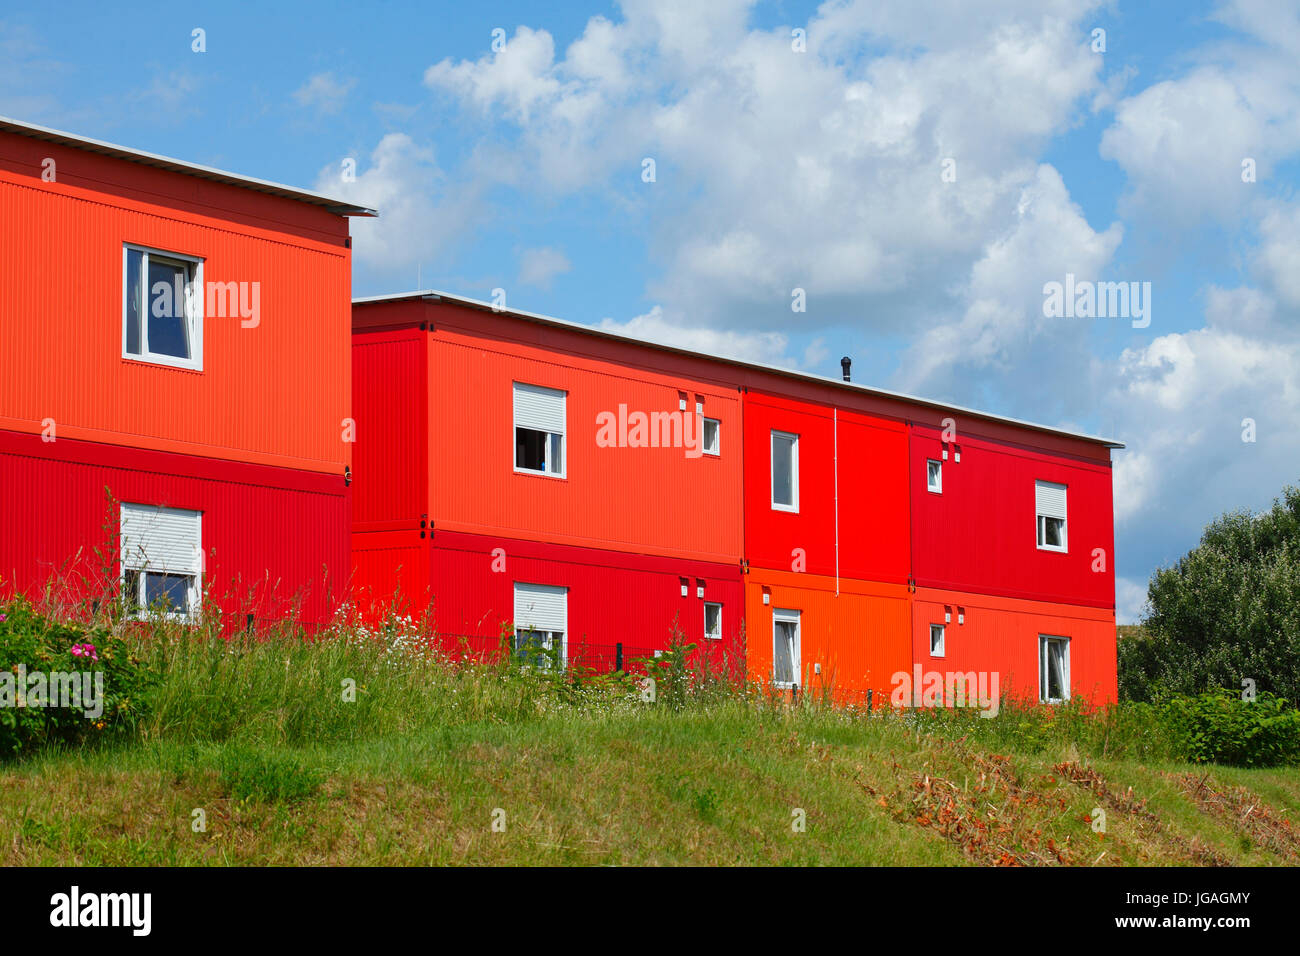
[[[0,605],[0,760],[134,728],[155,683],[129,643],[105,628],[51,620],[22,601]]]

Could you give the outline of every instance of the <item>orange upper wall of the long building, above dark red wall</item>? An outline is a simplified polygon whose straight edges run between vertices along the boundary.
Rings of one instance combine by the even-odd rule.
[[[430,306],[429,502],[438,529],[738,563],[741,414],[734,386],[602,352],[575,333],[525,341],[537,326],[455,306]],[[698,364],[698,363],[697,363]],[[564,479],[514,472],[512,382],[568,393]],[[681,447],[599,447],[597,415],[679,408],[722,421],[719,457]]]

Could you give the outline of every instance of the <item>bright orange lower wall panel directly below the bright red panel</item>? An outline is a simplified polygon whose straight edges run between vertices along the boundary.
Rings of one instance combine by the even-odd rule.
[[[766,605],[764,588],[771,594]],[[772,678],[772,611],[777,607],[802,611],[805,692],[831,687],[840,700],[861,700],[872,689],[879,704],[888,701],[893,675],[911,669],[906,585],[841,579],[837,596],[835,578],[751,568],[745,576],[745,633],[753,679]]]

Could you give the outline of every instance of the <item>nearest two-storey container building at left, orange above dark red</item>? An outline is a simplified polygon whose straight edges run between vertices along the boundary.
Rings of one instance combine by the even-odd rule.
[[[325,617],[369,211],[10,120],[0,208],[0,587]]]

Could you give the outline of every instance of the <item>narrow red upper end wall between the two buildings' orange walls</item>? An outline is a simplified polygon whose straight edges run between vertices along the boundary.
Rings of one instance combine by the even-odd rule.
[[[426,339],[419,329],[352,338],[354,531],[413,528],[429,511]]]

